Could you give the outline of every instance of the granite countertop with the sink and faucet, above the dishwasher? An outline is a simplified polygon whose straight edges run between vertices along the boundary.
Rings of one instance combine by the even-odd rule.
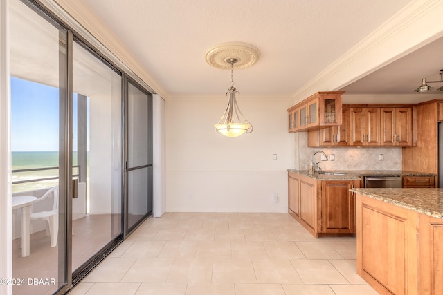
[[[344,175],[330,175],[330,174],[309,174],[307,170],[288,169],[289,172],[298,173],[309,178],[317,180],[360,180],[362,176],[377,175],[377,176],[436,176],[433,173],[423,173],[404,170],[339,170],[339,171],[323,171],[327,173],[341,173]]]

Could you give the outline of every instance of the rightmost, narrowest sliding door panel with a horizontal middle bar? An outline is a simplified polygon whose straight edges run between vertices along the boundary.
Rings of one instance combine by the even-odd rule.
[[[152,95],[127,82],[126,233],[152,213]]]

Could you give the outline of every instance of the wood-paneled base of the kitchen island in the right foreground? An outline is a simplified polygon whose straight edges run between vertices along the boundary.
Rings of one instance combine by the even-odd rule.
[[[379,294],[443,294],[443,219],[356,195],[357,273]]]

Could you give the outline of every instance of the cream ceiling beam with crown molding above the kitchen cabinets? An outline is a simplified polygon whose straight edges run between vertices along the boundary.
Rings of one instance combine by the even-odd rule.
[[[293,99],[298,102],[317,91],[336,91],[442,37],[443,26],[435,26],[442,15],[443,1],[411,1],[293,93]]]

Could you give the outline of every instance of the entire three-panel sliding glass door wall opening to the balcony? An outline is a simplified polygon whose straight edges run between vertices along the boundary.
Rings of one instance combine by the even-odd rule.
[[[12,289],[66,292],[152,213],[152,94],[9,1]]]

